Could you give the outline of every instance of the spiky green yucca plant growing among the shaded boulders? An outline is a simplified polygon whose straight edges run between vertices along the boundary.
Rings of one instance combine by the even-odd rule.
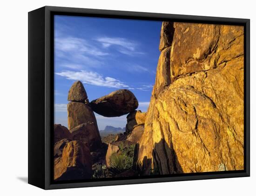
[[[112,173],[121,173],[132,168],[133,158],[125,154],[114,153],[109,158],[110,171]]]

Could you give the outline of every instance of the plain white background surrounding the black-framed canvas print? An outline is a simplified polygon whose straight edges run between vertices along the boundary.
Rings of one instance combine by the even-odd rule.
[[[2,0],[0,195],[255,195],[256,6],[253,3],[253,0]],[[251,177],[47,191],[27,184],[27,12],[46,5],[251,19]]]

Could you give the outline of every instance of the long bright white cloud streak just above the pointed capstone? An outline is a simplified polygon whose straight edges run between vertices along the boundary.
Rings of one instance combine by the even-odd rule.
[[[103,87],[112,87],[112,88],[127,88],[129,87],[124,82],[121,82],[113,77],[104,77],[99,73],[92,72],[92,71],[61,71],[55,73],[56,75],[66,77],[68,80],[79,80],[86,84],[91,84],[95,86],[103,86]]]

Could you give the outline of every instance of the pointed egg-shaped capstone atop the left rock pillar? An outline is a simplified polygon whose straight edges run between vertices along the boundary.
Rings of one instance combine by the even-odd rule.
[[[74,82],[74,84],[71,86],[71,88],[68,91],[67,100],[84,102],[86,99],[87,99],[87,94],[82,82],[80,81]]]

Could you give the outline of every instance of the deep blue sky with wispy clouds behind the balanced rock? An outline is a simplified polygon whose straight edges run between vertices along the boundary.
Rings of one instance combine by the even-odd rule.
[[[80,80],[89,101],[131,90],[146,112],[160,52],[162,22],[77,16],[54,17],[54,123],[67,126],[67,93]],[[124,127],[126,115],[96,114],[99,129]]]

